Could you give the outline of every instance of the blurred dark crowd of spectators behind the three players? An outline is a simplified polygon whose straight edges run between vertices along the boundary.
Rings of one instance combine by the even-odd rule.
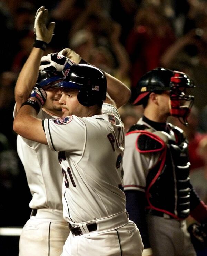
[[[186,133],[192,183],[207,203],[207,1],[1,0],[0,226],[21,226],[30,214],[31,195],[12,130],[14,86],[33,47],[34,15],[42,5],[56,22],[45,54],[71,48],[131,89],[130,102],[120,109],[126,131],[142,114],[132,102],[143,74],[162,66],[191,76],[196,88],[189,126],[172,122]]]

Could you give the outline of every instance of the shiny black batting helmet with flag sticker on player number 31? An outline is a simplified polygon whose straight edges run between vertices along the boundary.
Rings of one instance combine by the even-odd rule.
[[[72,65],[66,69],[63,80],[55,86],[78,89],[77,99],[83,106],[93,106],[106,99],[105,74],[92,65]]]

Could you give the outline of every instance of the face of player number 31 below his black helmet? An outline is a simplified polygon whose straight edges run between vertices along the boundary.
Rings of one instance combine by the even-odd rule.
[[[87,117],[89,115],[89,108],[81,105],[77,99],[78,90],[62,88],[61,92],[62,96],[59,100],[59,104],[62,108],[63,117],[69,115]]]

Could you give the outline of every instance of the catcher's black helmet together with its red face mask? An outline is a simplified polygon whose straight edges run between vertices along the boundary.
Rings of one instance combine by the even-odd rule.
[[[140,78],[136,86],[137,98],[134,105],[143,104],[151,92],[170,91],[170,114],[187,125],[187,117],[193,106],[194,96],[187,95],[186,89],[195,87],[193,81],[185,73],[162,67],[147,72]]]

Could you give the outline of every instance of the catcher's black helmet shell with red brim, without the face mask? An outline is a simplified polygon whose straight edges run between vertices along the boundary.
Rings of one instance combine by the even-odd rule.
[[[170,90],[170,79],[174,71],[162,67],[155,68],[140,78],[136,85],[137,98],[134,105],[141,105],[147,95],[154,91]]]

